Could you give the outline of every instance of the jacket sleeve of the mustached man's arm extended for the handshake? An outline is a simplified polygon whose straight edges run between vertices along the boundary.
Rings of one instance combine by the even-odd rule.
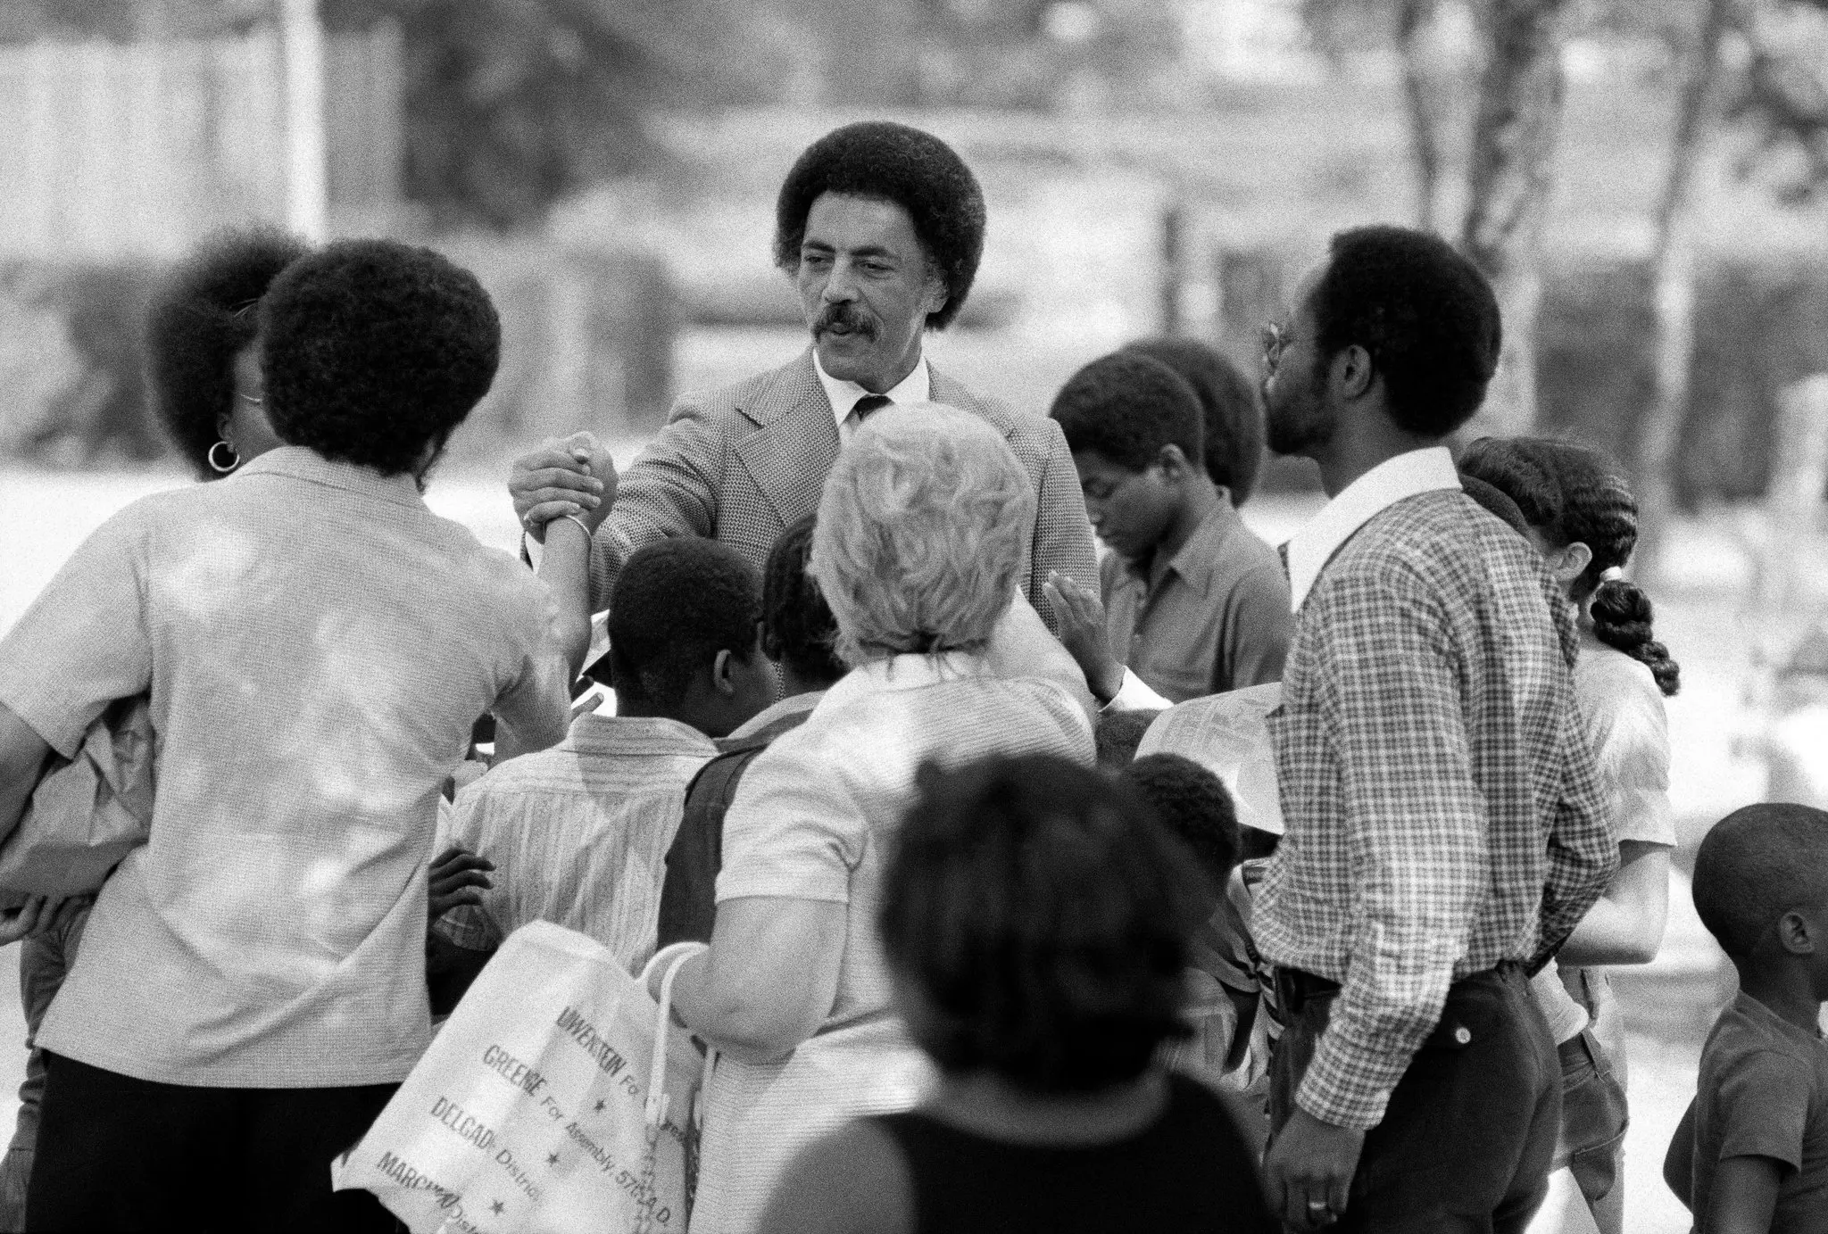
[[[622,475],[616,508],[590,543],[590,612],[609,607],[622,563],[667,536],[715,536],[728,442],[704,408],[680,402]]]

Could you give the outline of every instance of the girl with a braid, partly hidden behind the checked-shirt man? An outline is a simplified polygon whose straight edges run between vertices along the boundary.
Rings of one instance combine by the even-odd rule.
[[[1526,536],[1578,609],[1574,693],[1594,748],[1620,865],[1537,980],[1563,1068],[1557,1168],[1567,1166],[1603,1234],[1623,1223],[1625,1027],[1605,965],[1656,956],[1669,910],[1669,724],[1663,697],[1680,669],[1651,629],[1651,600],[1623,578],[1638,543],[1638,503],[1596,450],[1539,437],[1484,437],[1464,475],[1510,497]]]

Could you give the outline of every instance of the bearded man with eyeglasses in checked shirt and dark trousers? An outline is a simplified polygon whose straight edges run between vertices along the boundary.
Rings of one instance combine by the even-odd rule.
[[[1334,236],[1265,335],[1269,444],[1333,497],[1287,545],[1287,834],[1252,920],[1289,1015],[1265,1174],[1302,1230],[1523,1230],[1556,1150],[1528,973],[1614,845],[1554,580],[1442,444],[1499,335],[1484,276],[1395,227]]]

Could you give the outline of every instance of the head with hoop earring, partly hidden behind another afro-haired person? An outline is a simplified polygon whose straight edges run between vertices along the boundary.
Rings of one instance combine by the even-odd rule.
[[[311,249],[247,229],[205,239],[146,309],[146,378],[166,435],[199,479],[227,475],[280,444],[265,413],[260,298]]]

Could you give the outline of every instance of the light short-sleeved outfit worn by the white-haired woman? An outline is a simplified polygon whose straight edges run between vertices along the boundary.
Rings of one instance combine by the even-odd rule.
[[[1091,722],[1040,678],[976,656],[896,656],[852,671],[742,777],[724,819],[718,903],[786,896],[848,910],[837,996],[779,1064],[713,1071],[695,1234],[749,1230],[793,1154],[850,1117],[907,1110],[925,1060],[888,1009],[876,934],[885,848],[927,761],[1051,753],[1093,762]]]

